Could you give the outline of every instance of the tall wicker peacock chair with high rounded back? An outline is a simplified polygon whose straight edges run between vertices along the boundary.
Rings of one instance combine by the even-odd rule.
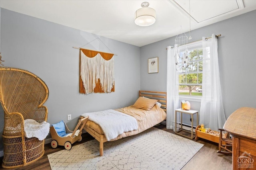
[[[48,87],[35,74],[18,68],[0,67],[0,102],[4,109],[3,168],[28,165],[44,155],[44,140],[25,137],[24,120],[47,121],[43,106]]]

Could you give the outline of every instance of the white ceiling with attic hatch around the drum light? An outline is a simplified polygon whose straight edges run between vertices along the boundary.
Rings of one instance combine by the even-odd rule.
[[[156,23],[140,27],[134,13],[145,1]],[[0,0],[0,6],[141,47],[189,31],[190,15],[193,30],[256,10],[256,0]]]

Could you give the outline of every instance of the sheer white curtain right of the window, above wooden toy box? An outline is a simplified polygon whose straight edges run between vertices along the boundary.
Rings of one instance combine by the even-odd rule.
[[[218,128],[223,128],[226,121],[220,88],[218,41],[214,34],[209,39],[203,37],[202,41],[203,79],[200,123],[204,123],[204,127],[218,131]]]

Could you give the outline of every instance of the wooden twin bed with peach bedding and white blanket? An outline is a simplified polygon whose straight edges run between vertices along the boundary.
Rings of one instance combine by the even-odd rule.
[[[89,116],[83,129],[100,142],[100,156],[103,155],[104,142],[136,135],[164,121],[166,92],[139,91],[139,98],[132,106],[103,112],[84,113],[80,116],[81,119]],[[112,119],[112,115],[117,113],[120,113],[120,117]],[[108,128],[112,128],[114,132],[108,132]]]

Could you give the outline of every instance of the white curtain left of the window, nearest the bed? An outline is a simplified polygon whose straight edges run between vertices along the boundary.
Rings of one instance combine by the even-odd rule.
[[[176,59],[175,59],[176,57]],[[174,129],[175,109],[178,109],[179,102],[179,72],[177,59],[177,45],[167,47],[167,117],[166,128]],[[178,121],[178,119],[177,119]]]

